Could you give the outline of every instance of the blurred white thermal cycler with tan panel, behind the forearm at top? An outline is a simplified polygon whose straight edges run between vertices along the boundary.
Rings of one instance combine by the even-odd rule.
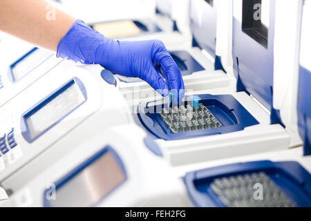
[[[185,1],[185,0],[182,0]],[[82,19],[92,28],[109,38],[117,39],[153,39],[157,35],[164,41],[174,44],[184,43],[183,35],[176,30],[176,21],[171,17],[172,1],[162,2],[157,8],[156,1],[90,1],[87,5],[83,1],[62,1],[56,3],[70,15]],[[187,6],[187,3],[183,3]],[[97,12],[100,10],[100,12]],[[154,37],[153,37],[154,36]]]

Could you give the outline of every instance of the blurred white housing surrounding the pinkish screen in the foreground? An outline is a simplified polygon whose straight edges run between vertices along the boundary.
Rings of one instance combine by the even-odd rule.
[[[129,133],[124,134],[122,131],[129,131]],[[138,139],[133,139],[133,134]],[[100,202],[96,202],[95,206],[190,206],[182,180],[173,173],[167,162],[149,151],[146,142],[144,142],[146,136],[146,133],[140,128],[133,128],[131,125],[97,131],[76,146],[71,153],[60,157],[57,162],[38,174],[33,180],[24,183],[19,189],[13,189],[14,194],[8,200],[0,202],[0,205],[44,206],[46,190],[49,190],[57,180],[73,171],[89,157],[105,146],[109,146],[124,164],[126,180],[102,198]],[[62,148],[62,143],[57,142],[55,146]],[[47,157],[48,155],[43,155],[39,158],[42,161],[47,160]],[[35,165],[32,162],[29,166],[38,166],[38,164]],[[103,168],[102,173],[109,170],[108,167]],[[16,181],[22,182],[22,180]],[[9,187],[11,182],[12,180],[3,182],[3,186]],[[84,188],[88,189],[91,186],[90,184]],[[77,189],[76,191],[79,193],[83,190]],[[55,197],[57,199],[57,187]],[[50,200],[50,202],[52,201]],[[65,205],[72,206],[73,204]]]

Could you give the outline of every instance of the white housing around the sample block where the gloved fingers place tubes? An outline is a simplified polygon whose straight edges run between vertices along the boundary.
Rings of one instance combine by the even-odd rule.
[[[224,6],[221,7],[223,8],[223,11],[229,13],[232,1],[219,1],[218,6],[220,5],[220,2]],[[242,21],[241,10],[243,1],[235,0],[233,3],[234,7],[231,22],[223,21],[228,24],[232,23],[233,18],[237,21]],[[284,76],[286,81],[280,81],[279,79],[274,80],[273,86],[275,88],[275,93],[273,93],[273,101],[274,108],[278,108],[281,113],[292,113],[291,115],[281,114],[281,120],[284,127],[281,126],[281,124],[271,124],[270,110],[267,110],[258,99],[243,91],[236,92],[237,79],[234,77],[234,73],[229,70],[230,68],[226,68],[227,75],[223,74],[223,76],[227,78],[229,86],[216,89],[210,89],[207,86],[205,90],[201,89],[195,91],[194,95],[232,95],[240,104],[242,104],[242,106],[244,106],[244,108],[247,109],[259,124],[246,127],[243,131],[221,135],[209,135],[182,140],[156,139],[157,144],[159,144],[162,149],[164,157],[167,157],[167,160],[169,160],[172,166],[237,157],[241,155],[252,155],[267,151],[278,151],[284,148],[301,146],[302,142],[298,131],[292,126],[296,125],[296,121],[294,117],[292,117],[295,116],[296,106],[294,106],[292,99],[283,99],[282,97],[286,93],[290,93],[291,97],[295,97],[296,93],[288,83],[292,82],[291,80],[293,79],[296,81],[298,78],[297,66],[296,68],[291,67],[294,67],[294,64],[297,63],[296,56],[298,54],[298,49],[296,46],[299,44],[299,36],[297,36],[296,33],[300,33],[302,3],[302,1],[276,3],[274,26],[279,28],[274,30],[274,42],[276,42],[276,45],[274,46],[274,57],[276,57],[274,61],[274,78],[279,78],[281,75],[283,76],[283,70],[287,70],[287,74]],[[287,16],[285,17],[284,15]],[[291,21],[287,22],[288,20]],[[288,28],[290,27],[291,30],[294,30],[287,35],[284,35],[285,30],[280,28],[284,26],[285,23]],[[232,41],[230,42],[232,44]],[[227,42],[227,45],[228,44],[229,43]],[[237,42],[235,42],[235,44],[237,44]],[[286,48],[289,48],[290,53],[284,54],[283,52],[281,54],[281,44],[286,46]],[[218,50],[216,51],[225,53],[225,55],[221,55],[222,58],[227,56],[227,52],[231,52],[229,49],[221,50],[220,47],[218,47]],[[285,58],[287,62],[281,62],[282,58]],[[227,59],[227,64],[230,64],[229,59]],[[281,65],[282,67],[280,68]],[[287,67],[289,67],[289,69],[287,69]],[[200,88],[199,82],[198,88]],[[152,99],[149,99],[149,101],[152,101]],[[277,104],[277,106],[275,106],[275,104]],[[133,109],[135,110],[135,108]]]

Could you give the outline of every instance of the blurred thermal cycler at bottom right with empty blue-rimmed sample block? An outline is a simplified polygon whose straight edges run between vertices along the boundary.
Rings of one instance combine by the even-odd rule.
[[[283,71],[283,77],[294,72],[290,81],[294,85],[294,93],[287,99],[296,99],[291,114],[296,118],[303,146],[181,166],[176,172],[183,177],[194,206],[311,206],[311,109],[308,104],[311,95],[311,1],[296,1],[284,8],[287,7],[294,9],[298,18],[290,21],[293,17],[288,17],[285,23],[293,22],[297,26],[292,37],[295,39],[298,33],[297,38],[301,39],[300,52],[294,53],[295,60],[300,59],[300,62],[293,64],[295,68]],[[288,15],[286,10],[276,13]],[[283,29],[283,26],[278,27]],[[299,48],[299,44],[293,48]],[[277,63],[276,69],[283,68]],[[288,79],[285,77],[283,80]]]

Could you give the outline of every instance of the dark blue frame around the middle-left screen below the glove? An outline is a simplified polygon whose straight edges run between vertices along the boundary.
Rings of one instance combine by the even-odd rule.
[[[45,106],[46,104],[48,104],[51,100],[53,100],[55,97],[57,97],[58,95],[60,95],[61,93],[63,93],[66,89],[68,89],[70,86],[72,86],[73,84],[77,84],[77,86],[79,87],[79,89],[82,92],[82,95],[84,96],[84,101],[79,104],[78,106],[76,106],[75,108],[73,108],[72,111],[70,111],[69,113],[66,113],[66,115],[64,115],[63,117],[61,117],[60,119],[57,120],[57,122],[55,122],[54,124],[52,124],[51,126],[49,126],[48,128],[46,128],[44,131],[42,131],[41,133],[39,133],[37,136],[35,137],[31,137],[30,132],[29,132],[29,128],[28,128],[28,124],[26,122],[26,119],[28,117],[30,117],[31,115],[35,114],[40,108],[42,108],[43,106]],[[58,88],[57,90],[55,90],[53,93],[50,93],[50,95],[46,96],[44,99],[42,99],[40,102],[38,102],[37,104],[35,104],[34,106],[32,106],[28,111],[26,111],[25,113],[23,113],[23,115],[21,115],[21,135],[23,135],[23,138],[28,142],[28,143],[32,143],[35,140],[37,140],[39,137],[41,137],[41,135],[44,135],[44,133],[46,133],[47,131],[50,130],[50,128],[53,128],[56,124],[58,124],[59,122],[62,121],[62,119],[64,119],[65,117],[67,117],[68,115],[70,115],[70,113],[73,113],[73,111],[75,111],[77,108],[79,108],[79,106],[81,106],[82,104],[84,104],[87,100],[87,94],[86,94],[86,88],[84,87],[84,84],[82,83],[82,81],[80,81],[77,77],[73,77],[73,79],[70,79],[66,84],[64,84],[63,86],[61,86],[60,88]]]

